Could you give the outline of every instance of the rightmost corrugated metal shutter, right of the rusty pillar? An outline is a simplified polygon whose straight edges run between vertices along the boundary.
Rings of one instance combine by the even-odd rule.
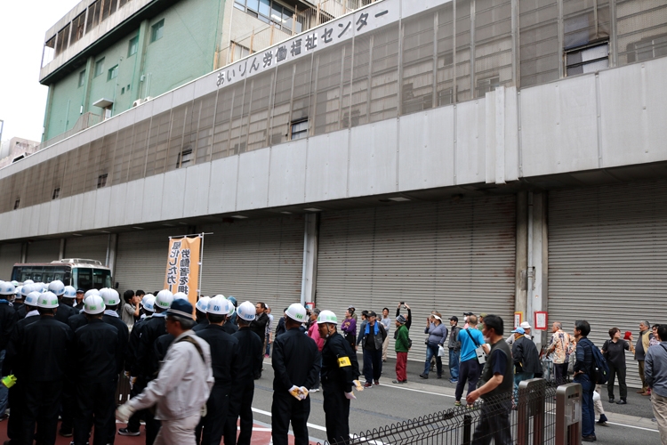
[[[563,190],[549,197],[549,320],[571,332],[591,323],[602,346],[609,328],[630,330],[667,313],[667,182]],[[626,355],[627,383],[639,371]]]

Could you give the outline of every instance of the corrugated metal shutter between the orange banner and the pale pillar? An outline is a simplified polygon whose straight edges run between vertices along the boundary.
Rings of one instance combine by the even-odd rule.
[[[205,226],[203,295],[264,302],[274,314],[301,300],[302,217],[234,221]]]

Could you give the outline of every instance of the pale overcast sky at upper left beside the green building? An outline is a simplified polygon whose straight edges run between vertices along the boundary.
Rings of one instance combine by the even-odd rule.
[[[3,141],[41,141],[48,88],[39,85],[44,35],[80,0],[0,0],[0,120]]]

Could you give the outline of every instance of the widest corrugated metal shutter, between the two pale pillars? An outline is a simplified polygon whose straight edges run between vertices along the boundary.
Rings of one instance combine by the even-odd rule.
[[[358,313],[386,306],[393,317],[405,301],[414,319],[408,358],[424,360],[422,332],[433,309],[447,325],[468,311],[511,320],[515,221],[514,196],[323,214],[317,307],[342,318],[350,304]]]

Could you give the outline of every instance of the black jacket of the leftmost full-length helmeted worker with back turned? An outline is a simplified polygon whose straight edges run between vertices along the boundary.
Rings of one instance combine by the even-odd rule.
[[[17,361],[30,382],[62,380],[68,373],[74,333],[65,323],[44,315],[29,324],[20,341]]]

